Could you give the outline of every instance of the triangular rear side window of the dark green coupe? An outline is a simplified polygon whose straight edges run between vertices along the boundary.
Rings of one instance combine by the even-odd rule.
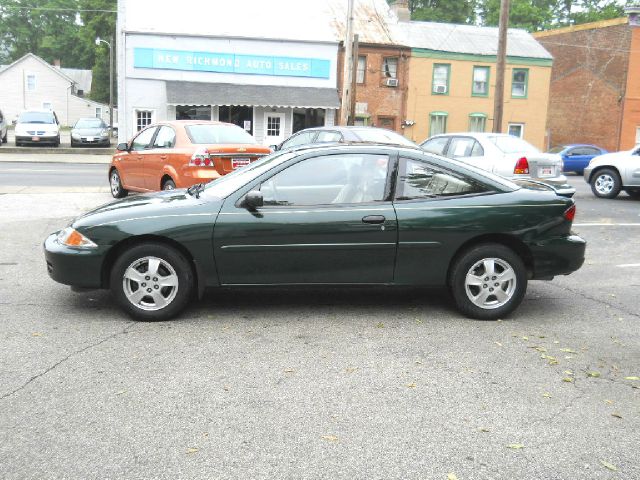
[[[396,200],[454,197],[489,191],[485,185],[456,172],[402,158]]]

